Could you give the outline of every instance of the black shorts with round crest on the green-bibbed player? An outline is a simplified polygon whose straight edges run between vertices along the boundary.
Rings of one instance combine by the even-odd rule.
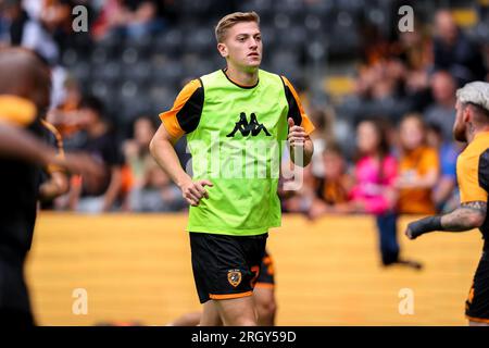
[[[268,234],[227,236],[190,232],[192,270],[201,303],[251,296]]]

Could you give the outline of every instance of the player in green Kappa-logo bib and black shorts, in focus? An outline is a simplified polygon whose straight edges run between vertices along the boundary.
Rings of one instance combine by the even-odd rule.
[[[172,110],[160,114],[162,125],[150,144],[191,206],[187,229],[201,325],[258,324],[253,288],[268,228],[280,224],[278,175],[272,172],[279,169],[287,139],[298,166],[313,153],[314,126],[296,90],[284,76],[260,70],[259,22],[254,12],[237,12],[217,23],[217,50],[227,67],[187,84]],[[173,148],[184,134],[193,177]],[[251,177],[256,164],[265,171],[258,167]]]

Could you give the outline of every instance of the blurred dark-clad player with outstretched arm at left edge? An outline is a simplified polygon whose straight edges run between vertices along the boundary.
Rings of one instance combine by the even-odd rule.
[[[30,248],[41,166],[100,175],[86,157],[57,157],[40,138],[50,73],[33,52],[0,50],[0,326],[32,326],[24,261]]]

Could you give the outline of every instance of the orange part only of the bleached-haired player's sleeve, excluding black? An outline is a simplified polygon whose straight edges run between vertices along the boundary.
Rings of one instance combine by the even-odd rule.
[[[487,191],[479,185],[479,156],[462,153],[456,160],[460,202],[487,201]]]

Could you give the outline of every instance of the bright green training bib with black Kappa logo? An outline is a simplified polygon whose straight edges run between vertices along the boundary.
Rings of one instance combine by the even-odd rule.
[[[209,199],[190,207],[188,231],[250,236],[280,225],[278,177],[288,103],[280,76],[259,71],[240,87],[224,71],[201,77],[204,103],[187,135],[193,179],[209,179]]]

